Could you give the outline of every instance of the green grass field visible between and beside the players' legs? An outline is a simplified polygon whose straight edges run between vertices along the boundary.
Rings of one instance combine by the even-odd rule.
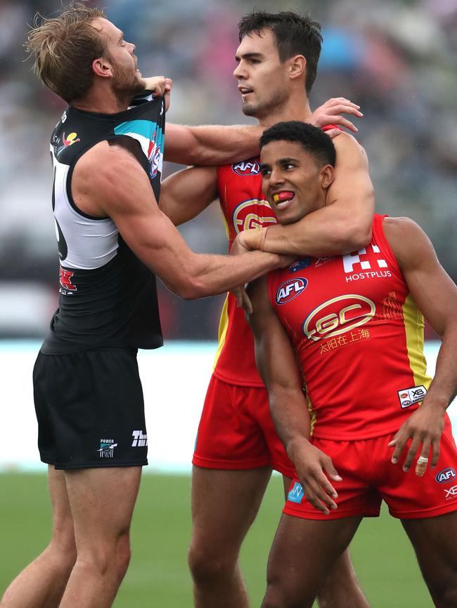
[[[186,476],[143,476],[132,527],[131,565],[115,608],[191,608],[186,564],[190,485]],[[46,545],[51,516],[44,475],[4,473],[0,487],[3,592]],[[273,477],[241,557],[252,608],[258,608],[263,597],[266,557],[282,503],[281,479]],[[432,608],[406,534],[387,512],[362,522],[352,543],[352,559],[373,608]]]

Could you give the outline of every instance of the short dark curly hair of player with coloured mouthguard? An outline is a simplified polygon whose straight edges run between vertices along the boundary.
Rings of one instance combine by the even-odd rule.
[[[306,122],[290,120],[273,124],[260,138],[260,150],[271,141],[300,143],[303,150],[311,154],[321,166],[335,166],[336,151],[333,141],[320,128]]]

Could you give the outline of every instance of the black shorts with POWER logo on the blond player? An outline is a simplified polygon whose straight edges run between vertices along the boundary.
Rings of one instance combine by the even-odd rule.
[[[148,464],[135,350],[39,352],[33,387],[41,461],[56,469]]]

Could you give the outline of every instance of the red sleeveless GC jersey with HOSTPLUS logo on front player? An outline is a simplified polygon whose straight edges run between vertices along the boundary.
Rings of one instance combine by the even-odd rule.
[[[303,258],[268,276],[297,352],[315,437],[369,439],[399,429],[425,397],[423,316],[375,215],[347,256]]]

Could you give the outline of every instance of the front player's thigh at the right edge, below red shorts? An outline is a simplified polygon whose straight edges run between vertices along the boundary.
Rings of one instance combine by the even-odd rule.
[[[432,588],[457,580],[457,510],[437,517],[401,520]]]

